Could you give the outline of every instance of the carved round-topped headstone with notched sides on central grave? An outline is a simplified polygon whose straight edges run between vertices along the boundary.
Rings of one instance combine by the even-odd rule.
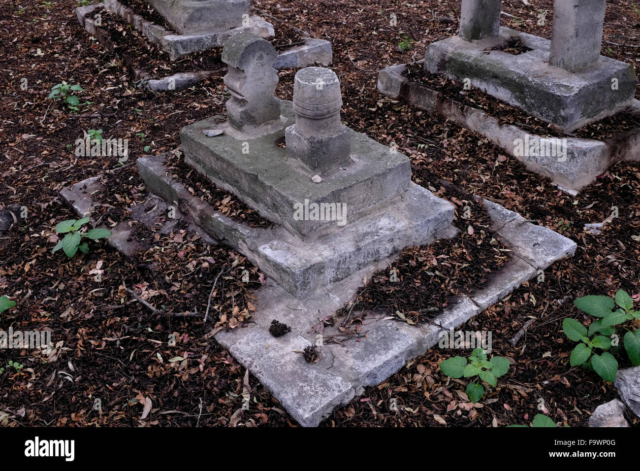
[[[273,96],[278,86],[278,58],[269,41],[253,33],[233,35],[222,49],[229,66],[224,82],[231,98],[227,117],[231,126],[243,130],[280,119],[280,100]]]

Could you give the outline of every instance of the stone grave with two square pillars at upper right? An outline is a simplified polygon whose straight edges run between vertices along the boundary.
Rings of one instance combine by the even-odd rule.
[[[522,129],[501,126],[468,107],[453,110],[433,90],[408,83],[401,76],[403,66],[382,70],[378,89],[392,97],[403,95],[487,136],[512,155],[526,157],[521,160],[529,168],[573,193],[611,163],[640,159],[638,129],[614,136],[610,142],[567,136],[616,113],[640,113],[640,102],[634,99],[637,78],[632,65],[600,55],[605,0],[556,0],[550,41],[500,28],[500,6],[500,0],[462,0],[460,34],[431,43],[424,69],[467,81],[549,123],[551,131],[568,137],[568,156],[518,156],[513,142],[524,137]],[[524,51],[504,51],[517,42]]]

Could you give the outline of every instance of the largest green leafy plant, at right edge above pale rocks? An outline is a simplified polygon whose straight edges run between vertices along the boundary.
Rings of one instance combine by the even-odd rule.
[[[640,320],[640,311],[634,310],[634,301],[625,290],[618,290],[614,299],[589,295],[575,299],[573,304],[580,311],[598,319],[591,322],[587,329],[578,320],[564,318],[564,335],[573,342],[579,342],[569,358],[572,366],[582,365],[593,369],[605,381],[615,381],[618,360],[609,350],[618,350],[611,342],[611,337],[616,335],[618,338],[621,333],[619,329],[626,331],[623,335],[623,345],[628,358],[635,366],[640,365],[640,330],[621,326],[630,320]],[[598,350],[602,352],[597,353]]]

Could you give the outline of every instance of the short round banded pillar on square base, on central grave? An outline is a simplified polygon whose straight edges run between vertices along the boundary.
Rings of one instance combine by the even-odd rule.
[[[298,70],[293,85],[296,124],[285,129],[287,155],[317,172],[349,163],[351,137],[340,121],[340,81],[331,69]]]

